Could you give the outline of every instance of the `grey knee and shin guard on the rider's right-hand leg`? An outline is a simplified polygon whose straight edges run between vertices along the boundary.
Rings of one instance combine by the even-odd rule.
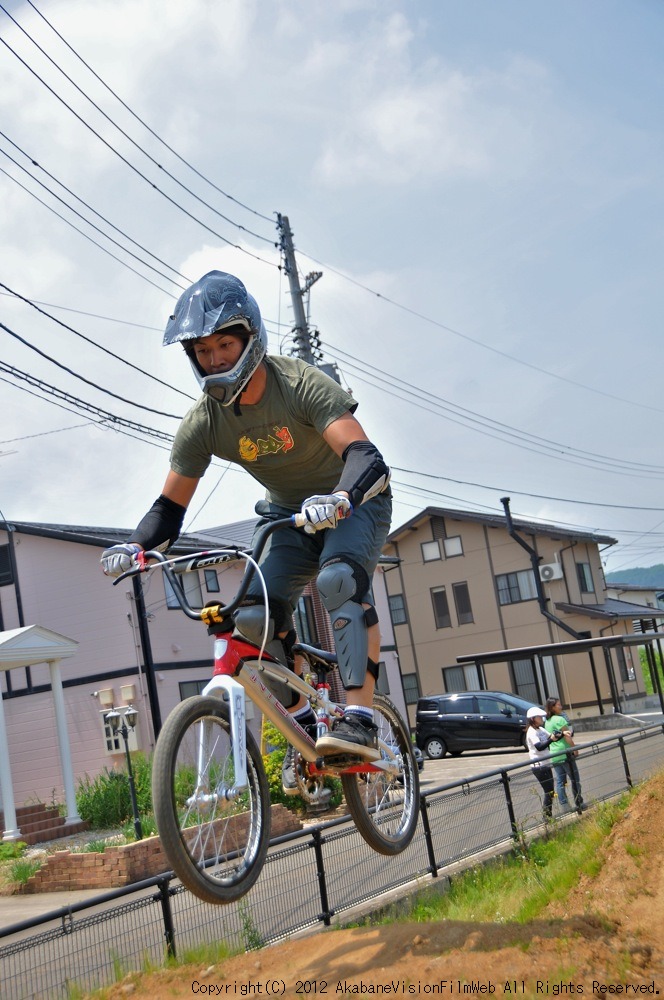
[[[362,687],[367,674],[369,640],[367,616],[360,602],[368,589],[367,574],[361,566],[350,562],[329,562],[316,582],[330,615],[343,686],[346,690]]]

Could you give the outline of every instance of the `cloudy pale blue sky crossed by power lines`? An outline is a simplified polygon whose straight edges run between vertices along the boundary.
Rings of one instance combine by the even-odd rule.
[[[659,0],[2,0],[0,517],[138,523],[182,289],[292,349],[281,215],[394,528],[509,496],[664,562],[663,50]],[[215,460],[185,528],[261,495]]]

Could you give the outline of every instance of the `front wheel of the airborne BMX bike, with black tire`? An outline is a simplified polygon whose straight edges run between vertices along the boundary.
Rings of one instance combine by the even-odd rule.
[[[198,756],[203,761],[199,781]],[[247,786],[232,792],[230,718],[224,702],[196,695],[181,702],[159,734],[152,802],[164,853],[187,889],[206,903],[231,903],[251,889],[270,841],[265,769],[246,733]]]

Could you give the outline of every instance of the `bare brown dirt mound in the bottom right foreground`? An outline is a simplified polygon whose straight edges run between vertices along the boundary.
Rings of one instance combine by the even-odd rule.
[[[131,996],[664,996],[664,774],[644,784],[564,907],[529,924],[392,924],[329,930],[239,955],[128,977]]]

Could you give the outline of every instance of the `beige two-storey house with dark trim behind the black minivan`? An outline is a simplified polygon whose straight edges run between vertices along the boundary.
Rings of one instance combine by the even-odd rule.
[[[495,515],[427,507],[388,543],[398,559],[385,579],[411,725],[418,697],[444,691],[499,690],[540,703],[557,694],[576,717],[625,711],[643,696],[636,647],[566,645],[631,634],[647,610],[607,596],[601,552],[615,539],[512,520],[506,503]],[[550,644],[562,647],[542,648]]]

